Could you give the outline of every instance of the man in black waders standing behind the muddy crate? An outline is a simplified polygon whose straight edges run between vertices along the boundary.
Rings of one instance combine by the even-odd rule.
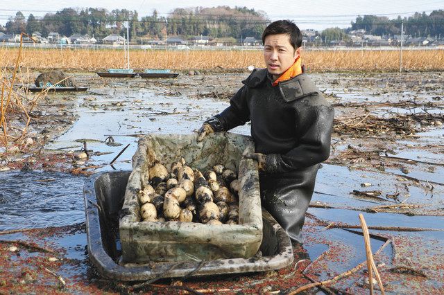
[[[266,69],[253,71],[230,107],[203,123],[198,141],[251,120],[256,151],[244,157],[259,164],[262,205],[291,240],[302,242],[319,163],[330,154],[334,110],[302,73],[302,34],[296,24],[274,21],[262,42]]]

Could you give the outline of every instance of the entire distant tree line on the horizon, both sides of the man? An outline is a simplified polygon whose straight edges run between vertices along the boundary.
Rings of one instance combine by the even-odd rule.
[[[159,16],[157,11],[153,10],[152,15],[141,19],[135,10],[116,9],[108,12],[103,8],[85,8],[80,11],[65,8],[56,13],[47,13],[39,19],[32,14],[26,19],[22,12],[17,12],[15,17],[11,17],[6,23],[5,33],[26,32],[31,35],[38,31],[44,36],[49,32],[65,36],[79,33],[101,38],[111,33],[126,33],[126,21],[129,24],[130,38],[143,36],[159,39],[177,35],[261,39],[262,31],[270,23],[265,12],[246,7],[176,8],[168,17]],[[352,21],[350,28],[327,28],[321,37],[346,39],[348,32],[359,29],[364,29],[367,34],[372,35],[400,35],[402,22],[406,35],[441,37],[444,32],[444,10],[434,10],[429,15],[416,12],[411,17],[399,16],[397,19],[375,15],[359,16]]]

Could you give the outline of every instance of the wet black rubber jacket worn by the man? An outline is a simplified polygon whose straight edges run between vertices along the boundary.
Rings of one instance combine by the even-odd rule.
[[[266,173],[296,172],[330,154],[334,109],[307,74],[271,85],[266,69],[253,71],[215,117],[224,130],[251,120],[256,152],[266,154]]]

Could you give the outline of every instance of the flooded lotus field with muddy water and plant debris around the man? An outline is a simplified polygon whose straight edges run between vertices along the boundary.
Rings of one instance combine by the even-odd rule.
[[[0,172],[0,291],[168,294],[186,287],[201,293],[287,294],[334,279],[307,292],[364,293],[366,251],[359,213],[372,234],[386,292],[442,290],[442,73],[311,75],[335,107],[332,155],[318,173],[305,243],[294,247],[295,262],[289,267],[146,284],[100,278],[85,252],[85,179],[96,172],[130,170],[143,134],[194,132],[228,105],[247,76],[209,71],[169,80],[119,80],[77,73],[89,91],[51,94],[42,101],[31,124],[35,146],[42,148],[0,161],[0,170],[6,170]],[[245,125],[232,132],[249,134],[249,129]],[[89,159],[77,157],[85,147]]]

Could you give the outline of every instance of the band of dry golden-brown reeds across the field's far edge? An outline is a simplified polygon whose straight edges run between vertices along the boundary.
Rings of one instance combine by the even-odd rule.
[[[0,48],[3,66],[11,66],[18,48]],[[399,71],[399,51],[303,51],[302,61],[309,71]],[[21,65],[29,69],[65,69],[97,71],[123,68],[126,60],[123,50],[117,49],[45,49],[26,48]],[[245,69],[264,67],[262,51],[173,51],[131,50],[133,69]],[[402,67],[411,71],[444,69],[444,49],[404,50]]]

